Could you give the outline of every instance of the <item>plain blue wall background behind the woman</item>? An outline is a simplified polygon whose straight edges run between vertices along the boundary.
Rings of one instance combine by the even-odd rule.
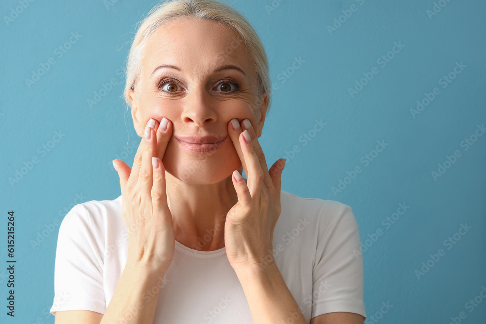
[[[140,137],[121,100],[121,72],[134,26],[156,2],[113,1],[33,1],[17,16],[19,1],[1,1],[0,212],[15,210],[17,220],[16,317],[6,315],[7,272],[0,270],[2,323],[54,323],[59,223],[74,204],[118,197],[111,161],[133,163]],[[366,247],[366,323],[382,302],[393,307],[381,323],[449,323],[461,311],[463,323],[485,323],[486,300],[472,312],[466,303],[486,287],[486,136],[477,128],[486,123],[486,3],[436,1],[441,10],[431,15],[431,0],[232,2],[269,58],[273,103],[260,143],[269,165],[288,159],[282,189],[353,209]],[[71,32],[81,37],[60,57],[55,49]],[[395,42],[404,47],[393,53]],[[393,58],[383,66],[377,60],[387,53]],[[45,75],[27,84],[50,58]],[[293,70],[295,58],[304,62]],[[454,75],[456,62],[466,67]],[[361,80],[374,67],[378,73]],[[450,72],[455,78],[443,88]],[[111,78],[116,85],[90,106]],[[356,82],[364,85],[351,95]],[[434,87],[440,93],[414,115]],[[327,124],[313,133],[316,119]],[[55,132],[65,134],[57,143]],[[305,145],[304,134],[313,136]],[[467,138],[476,141],[466,150]],[[380,153],[377,141],[387,144]],[[460,157],[434,178],[456,150]],[[12,182],[17,171],[25,174]],[[400,203],[410,208],[386,225]],[[455,241],[461,224],[471,228]],[[33,246],[43,231],[47,237]],[[455,244],[444,244],[449,237]],[[439,249],[445,255],[432,261]],[[433,266],[417,277],[422,262]]]

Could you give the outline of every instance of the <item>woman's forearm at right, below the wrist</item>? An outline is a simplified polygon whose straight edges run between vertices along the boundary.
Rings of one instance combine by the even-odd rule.
[[[308,324],[275,263],[263,270],[239,271],[237,275],[254,323]],[[291,318],[294,321],[288,322]]]

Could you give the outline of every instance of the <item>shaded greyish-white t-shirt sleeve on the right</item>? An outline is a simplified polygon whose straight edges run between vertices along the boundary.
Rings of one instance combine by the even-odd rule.
[[[311,318],[332,312],[356,313],[366,318],[363,256],[351,207],[342,204],[323,231],[312,269]]]

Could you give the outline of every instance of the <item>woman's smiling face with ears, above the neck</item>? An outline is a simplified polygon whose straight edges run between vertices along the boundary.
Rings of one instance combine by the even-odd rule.
[[[136,87],[139,98],[133,90],[130,97],[137,134],[143,135],[150,118],[173,123],[162,163],[184,182],[217,183],[241,168],[228,136],[231,119],[249,119],[261,135],[266,94],[258,98],[243,39],[223,24],[179,18],[161,25],[146,42]],[[195,138],[184,138],[189,136]],[[220,142],[206,152],[191,150],[184,142],[202,136]]]

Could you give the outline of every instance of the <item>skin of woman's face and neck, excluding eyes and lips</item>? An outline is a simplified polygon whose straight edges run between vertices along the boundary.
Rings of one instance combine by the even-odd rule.
[[[225,246],[225,216],[238,202],[231,176],[234,170],[241,173],[243,168],[228,136],[228,123],[233,118],[240,122],[247,118],[260,136],[268,103],[256,98],[256,73],[243,43],[225,52],[232,48],[235,38],[239,39],[236,32],[217,22],[199,19],[165,22],[146,40],[144,52],[150,55],[142,55],[140,84],[136,86],[139,96],[130,91],[132,117],[139,136],[150,118],[160,121],[166,117],[173,123],[173,136],[162,163],[166,168],[174,235],[183,245],[198,249],[199,238],[219,228],[201,248],[203,251]],[[220,53],[225,54],[223,59]],[[160,68],[151,78],[154,68],[162,64],[177,66],[182,71]],[[224,65],[242,68],[247,77],[234,69],[213,72]],[[178,80],[177,91],[181,94],[166,94],[157,88],[160,80],[172,75]],[[231,94],[219,94],[216,90],[223,79],[236,81],[241,88]],[[261,102],[258,109],[256,102]],[[215,152],[192,154],[180,147],[174,135],[228,137]]]

